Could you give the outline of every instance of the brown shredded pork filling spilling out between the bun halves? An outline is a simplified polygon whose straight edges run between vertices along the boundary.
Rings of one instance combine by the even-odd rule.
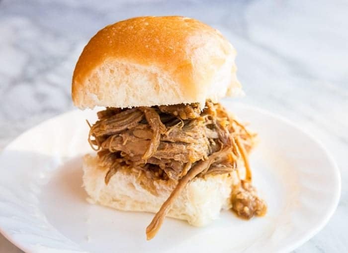
[[[246,177],[234,187],[231,203],[237,215],[250,219],[265,213],[264,201],[250,184],[248,153],[255,134],[218,103],[133,109],[107,108],[90,126],[88,141],[109,167],[105,184],[121,167],[139,171],[141,185],[157,195],[153,182],[170,180],[174,191],[148,226],[147,238],[160,229],[174,199],[194,177],[231,173],[242,159]],[[89,123],[88,123],[89,124]]]

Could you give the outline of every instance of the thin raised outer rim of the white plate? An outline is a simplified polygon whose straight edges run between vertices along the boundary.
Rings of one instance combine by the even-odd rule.
[[[306,243],[307,241],[309,241],[311,238],[313,238],[316,234],[318,234],[330,221],[330,219],[332,218],[332,216],[334,215],[340,199],[341,199],[341,193],[342,193],[342,178],[341,178],[341,171],[339,169],[339,166],[335,160],[335,158],[333,157],[333,155],[331,154],[331,152],[328,150],[328,148],[323,144],[323,142],[317,138],[316,136],[314,136],[312,133],[310,133],[308,130],[306,130],[303,127],[300,127],[298,125],[296,125],[295,123],[293,123],[291,120],[286,119],[285,117],[275,114],[273,112],[270,112],[266,109],[260,108],[260,107],[256,107],[256,106],[252,106],[249,104],[245,104],[245,103],[241,103],[241,102],[234,102],[231,100],[222,100],[220,101],[221,104],[223,106],[226,105],[233,105],[235,107],[240,107],[240,108],[244,108],[247,110],[253,110],[256,111],[258,113],[270,116],[272,118],[275,118],[283,123],[285,123],[286,125],[295,128],[298,131],[301,131],[302,133],[306,134],[315,144],[317,144],[326,154],[329,163],[331,164],[332,170],[335,172],[335,178],[337,181],[337,187],[336,187],[336,191],[333,192],[335,194],[332,205],[330,207],[330,209],[328,209],[328,211],[325,214],[325,217],[321,220],[321,222],[317,223],[316,226],[313,226],[312,229],[305,235],[303,236],[302,239],[298,240],[297,242],[288,245],[287,247],[284,247],[282,250],[284,250],[285,252],[291,252],[295,249],[297,249],[298,247],[300,247],[301,245],[303,245],[304,243]],[[95,110],[95,109],[94,109]],[[74,110],[70,110],[68,112],[56,115],[50,119],[47,119],[39,124],[37,124],[34,127],[31,127],[27,130],[25,130],[24,132],[22,132],[21,134],[19,134],[17,137],[15,137],[10,143],[8,143],[1,151],[0,151],[0,155],[6,151],[7,149],[9,149],[13,143],[15,143],[19,138],[21,138],[23,135],[27,134],[30,131],[35,130],[36,128],[41,127],[44,124],[47,124],[50,121],[56,121],[59,118],[63,118],[68,114],[74,113],[74,112],[82,112],[81,110],[78,109],[74,109]],[[86,111],[86,110],[85,110]],[[91,110],[92,111],[92,110]],[[17,240],[13,237],[11,237],[11,235],[6,232],[4,229],[2,229],[0,227],[0,234],[6,239],[8,240],[11,244],[13,244],[14,246],[16,246],[17,248],[19,248],[20,250],[26,252],[26,253],[35,253],[34,249],[28,248],[27,245],[22,244],[20,242],[20,240]],[[59,250],[59,249],[58,249]]]

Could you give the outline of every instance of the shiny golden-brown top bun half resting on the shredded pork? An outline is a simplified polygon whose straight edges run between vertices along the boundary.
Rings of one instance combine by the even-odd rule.
[[[219,31],[181,16],[135,17],[101,29],[74,71],[81,108],[217,101],[241,93],[236,51]]]

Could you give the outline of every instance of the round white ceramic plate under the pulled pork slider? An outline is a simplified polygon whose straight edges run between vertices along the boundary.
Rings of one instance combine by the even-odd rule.
[[[337,206],[339,170],[321,144],[267,112],[225,103],[259,132],[254,184],[268,203],[250,221],[232,212],[206,228],[166,219],[145,239],[153,214],[88,204],[81,156],[90,152],[85,119],[74,111],[23,133],[0,155],[0,232],[25,252],[289,252],[314,236]]]

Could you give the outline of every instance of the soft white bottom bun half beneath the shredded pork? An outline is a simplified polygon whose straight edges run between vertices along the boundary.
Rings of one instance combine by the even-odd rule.
[[[84,187],[90,200],[123,211],[156,213],[172,193],[175,185],[166,180],[154,181],[158,196],[146,190],[138,173],[120,169],[109,183],[104,182],[108,168],[100,166],[97,156],[84,157]],[[205,226],[218,218],[222,209],[231,208],[232,185],[239,182],[236,172],[196,177],[175,199],[168,216],[186,220],[192,226]]]

